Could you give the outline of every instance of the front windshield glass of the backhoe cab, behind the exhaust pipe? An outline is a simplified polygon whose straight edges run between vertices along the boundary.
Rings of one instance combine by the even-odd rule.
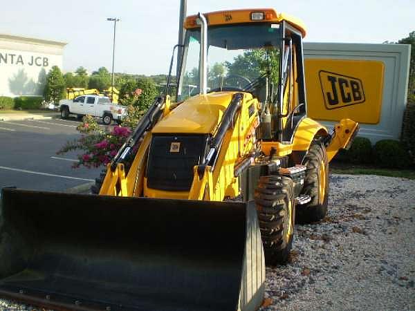
[[[186,32],[178,100],[199,94],[200,28]],[[208,92],[249,91],[279,79],[281,32],[277,23],[208,28]]]

